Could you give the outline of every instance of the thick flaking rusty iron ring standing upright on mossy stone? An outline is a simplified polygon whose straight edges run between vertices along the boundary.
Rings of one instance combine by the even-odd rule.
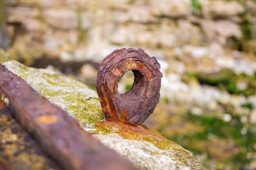
[[[141,49],[117,49],[99,67],[96,88],[107,120],[140,125],[159,102],[162,73],[155,57]],[[117,82],[132,70],[134,84],[119,94]]]

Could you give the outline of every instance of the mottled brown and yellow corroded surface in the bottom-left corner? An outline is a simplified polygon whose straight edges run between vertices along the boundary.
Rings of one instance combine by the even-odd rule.
[[[10,110],[2,104],[0,108],[0,167],[1,165],[6,170],[61,170],[20,127],[11,116]]]

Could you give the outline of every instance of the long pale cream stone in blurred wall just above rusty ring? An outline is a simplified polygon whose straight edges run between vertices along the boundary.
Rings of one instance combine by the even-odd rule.
[[[187,20],[162,20],[159,25],[120,25],[110,39],[113,44],[129,44],[151,49],[172,48],[183,44],[200,45],[204,36],[200,29]]]

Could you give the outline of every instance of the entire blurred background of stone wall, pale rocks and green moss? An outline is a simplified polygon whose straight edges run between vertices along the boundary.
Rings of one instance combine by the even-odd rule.
[[[209,170],[256,170],[256,0],[1,0],[0,47],[94,89],[114,49],[145,49],[164,75],[146,126]]]

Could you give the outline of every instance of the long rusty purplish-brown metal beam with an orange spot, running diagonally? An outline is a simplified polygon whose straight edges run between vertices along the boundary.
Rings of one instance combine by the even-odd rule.
[[[135,170],[79,127],[77,121],[0,65],[0,103],[66,170]]]

